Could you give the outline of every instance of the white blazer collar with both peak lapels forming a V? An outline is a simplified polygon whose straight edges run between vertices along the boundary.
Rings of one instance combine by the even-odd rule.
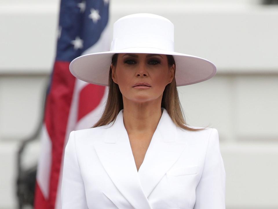
[[[147,198],[178,160],[186,141],[177,140],[177,127],[163,108],[144,161],[137,172],[122,112],[107,129],[104,140],[96,143],[94,148],[107,174],[129,203],[135,209],[151,209]]]

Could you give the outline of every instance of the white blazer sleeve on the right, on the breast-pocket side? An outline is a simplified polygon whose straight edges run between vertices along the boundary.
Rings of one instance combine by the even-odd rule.
[[[196,187],[194,209],[225,209],[226,172],[220,153],[218,131],[212,128],[204,168]]]

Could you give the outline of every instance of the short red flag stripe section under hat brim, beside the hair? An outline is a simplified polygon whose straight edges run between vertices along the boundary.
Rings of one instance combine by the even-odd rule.
[[[77,121],[94,110],[104,96],[105,86],[88,84],[79,94],[79,107]]]

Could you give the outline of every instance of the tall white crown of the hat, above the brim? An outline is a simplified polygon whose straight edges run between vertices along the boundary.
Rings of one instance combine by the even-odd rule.
[[[131,14],[114,23],[111,51],[127,48],[174,51],[174,25],[167,18],[148,13]]]

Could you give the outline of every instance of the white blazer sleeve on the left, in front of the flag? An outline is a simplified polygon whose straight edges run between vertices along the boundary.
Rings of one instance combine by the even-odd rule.
[[[76,156],[74,131],[70,133],[65,147],[61,202],[62,209],[88,209],[84,182]]]

